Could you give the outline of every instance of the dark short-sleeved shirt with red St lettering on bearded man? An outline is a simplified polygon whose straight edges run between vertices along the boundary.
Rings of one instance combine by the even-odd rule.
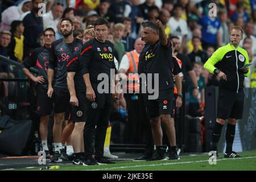
[[[49,55],[48,68],[55,70],[55,87],[68,89],[67,67],[79,59],[82,48],[82,41],[75,39],[72,43],[65,43],[63,39],[52,43]]]

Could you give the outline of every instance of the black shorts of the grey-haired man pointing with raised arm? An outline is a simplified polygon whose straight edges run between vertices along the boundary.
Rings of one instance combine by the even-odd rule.
[[[175,99],[174,90],[168,90],[166,93],[159,93],[157,100],[146,100],[147,114],[150,118],[159,117],[163,114],[170,114],[174,117]]]

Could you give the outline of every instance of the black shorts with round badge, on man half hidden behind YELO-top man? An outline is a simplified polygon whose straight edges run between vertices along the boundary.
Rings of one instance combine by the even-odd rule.
[[[79,100],[79,106],[71,106],[71,119],[73,122],[85,122],[86,92],[76,92],[76,97]]]

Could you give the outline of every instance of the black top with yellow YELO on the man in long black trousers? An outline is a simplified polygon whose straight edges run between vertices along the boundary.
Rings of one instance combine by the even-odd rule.
[[[100,73],[105,73],[110,78],[111,69],[113,69],[113,75],[117,74],[117,69],[114,64],[114,45],[106,40],[105,43],[99,42],[97,39],[92,39],[86,42],[82,47],[80,63],[82,75],[89,73],[90,82],[92,85],[98,85],[102,80],[97,80]],[[114,77],[113,77],[114,78]],[[96,90],[94,90],[95,92]]]

